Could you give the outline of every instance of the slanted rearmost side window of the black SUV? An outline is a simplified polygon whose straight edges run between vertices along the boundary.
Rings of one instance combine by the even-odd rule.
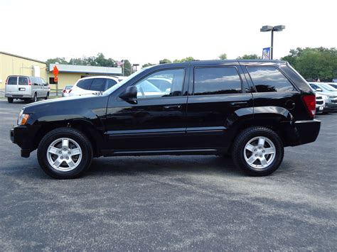
[[[289,80],[274,67],[247,67],[257,92],[295,91]]]

